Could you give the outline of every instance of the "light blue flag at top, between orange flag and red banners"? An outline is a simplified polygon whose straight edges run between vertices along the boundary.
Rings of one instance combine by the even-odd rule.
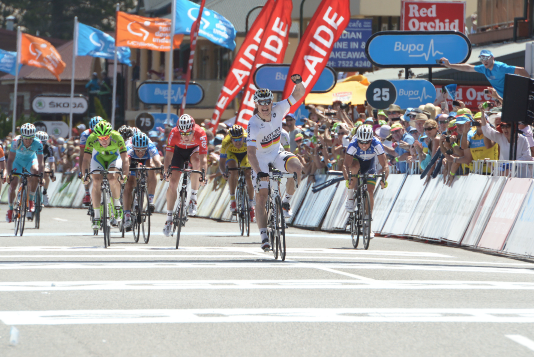
[[[197,20],[199,10],[199,4],[188,0],[176,0],[175,34],[189,35],[193,22]],[[235,49],[235,28],[231,22],[206,7],[200,21],[199,36],[232,51]]]

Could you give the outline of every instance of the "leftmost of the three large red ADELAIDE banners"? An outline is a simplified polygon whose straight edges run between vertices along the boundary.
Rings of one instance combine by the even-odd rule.
[[[262,36],[273,7],[274,0],[269,0],[263,5],[262,11],[258,14],[250,30],[248,30],[245,41],[243,41],[237,55],[235,55],[232,67],[228,71],[224,86],[221,89],[221,94],[219,94],[217,103],[215,104],[215,110],[213,111],[213,115],[211,115],[211,127],[216,127],[219,124],[221,114],[248,81],[252,65],[256,59],[258,46],[260,46],[262,41]]]

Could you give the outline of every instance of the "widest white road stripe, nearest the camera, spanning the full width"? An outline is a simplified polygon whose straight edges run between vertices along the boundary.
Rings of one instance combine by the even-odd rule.
[[[534,309],[258,308],[2,311],[6,325],[235,322],[534,323]]]

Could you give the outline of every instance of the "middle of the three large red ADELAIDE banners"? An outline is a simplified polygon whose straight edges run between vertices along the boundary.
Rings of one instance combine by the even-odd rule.
[[[291,11],[293,10],[292,0],[277,0],[274,3],[269,22],[265,27],[260,47],[256,52],[256,59],[252,66],[252,73],[248,77],[245,92],[239,106],[239,113],[235,123],[243,127],[248,126],[248,121],[254,115],[254,86],[253,76],[256,68],[268,63],[282,63],[286,54],[289,40],[289,28],[291,27]]]

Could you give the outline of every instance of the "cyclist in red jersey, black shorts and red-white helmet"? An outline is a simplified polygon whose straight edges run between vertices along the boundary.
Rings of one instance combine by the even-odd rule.
[[[178,119],[176,127],[169,134],[165,160],[165,170],[169,167],[184,168],[185,162],[191,162],[194,170],[207,172],[208,170],[208,138],[206,132],[197,124],[189,114],[184,114]],[[168,237],[172,229],[172,212],[178,197],[178,184],[182,173],[165,175],[169,182],[167,189],[167,221],[163,227],[163,234]],[[191,200],[189,202],[189,215],[194,216],[198,212],[197,191],[199,185],[205,185],[207,180],[200,182],[199,174],[191,174]]]

